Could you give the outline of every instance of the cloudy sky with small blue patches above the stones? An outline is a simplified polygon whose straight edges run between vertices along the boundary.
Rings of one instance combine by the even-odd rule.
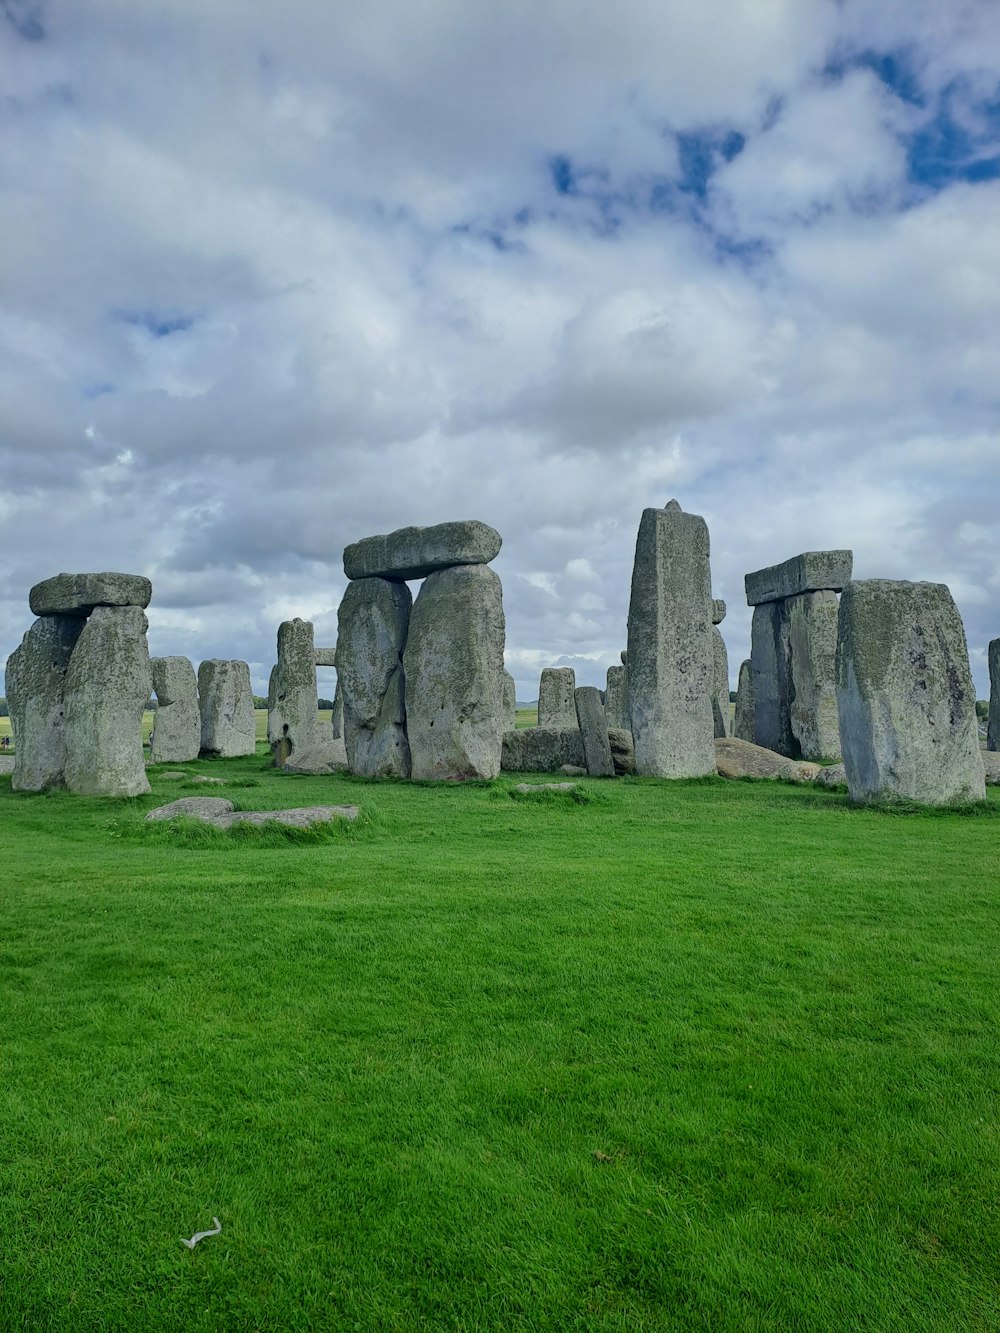
[[[733,681],[743,575],[851,547],[985,694],[996,0],[0,0],[0,661],[121,569],[263,690],[347,543],[476,517],[519,697],[603,684],[676,496]]]

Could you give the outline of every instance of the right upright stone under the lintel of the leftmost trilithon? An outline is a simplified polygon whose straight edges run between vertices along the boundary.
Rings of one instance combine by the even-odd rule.
[[[141,607],[95,607],[65,673],[65,785],[79,796],[140,796],[143,712],[153,688]]]

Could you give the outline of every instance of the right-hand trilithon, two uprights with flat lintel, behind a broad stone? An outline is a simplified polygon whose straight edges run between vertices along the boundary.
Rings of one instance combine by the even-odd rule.
[[[753,607],[753,740],[788,758],[839,758],[833,657],[849,551],[807,551],[745,577]],[[744,737],[749,738],[749,737]]]

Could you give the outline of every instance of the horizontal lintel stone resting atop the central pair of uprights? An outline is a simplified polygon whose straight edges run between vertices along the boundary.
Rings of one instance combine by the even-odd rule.
[[[487,565],[500,555],[500,533],[465,519],[432,528],[399,528],[344,549],[348,579],[424,579],[452,565]]]

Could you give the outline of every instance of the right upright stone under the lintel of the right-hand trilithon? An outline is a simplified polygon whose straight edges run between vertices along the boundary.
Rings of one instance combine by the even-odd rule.
[[[805,592],[788,597],[784,607],[792,666],[788,705],[792,736],[803,758],[840,758],[835,682],[837,595]]]

